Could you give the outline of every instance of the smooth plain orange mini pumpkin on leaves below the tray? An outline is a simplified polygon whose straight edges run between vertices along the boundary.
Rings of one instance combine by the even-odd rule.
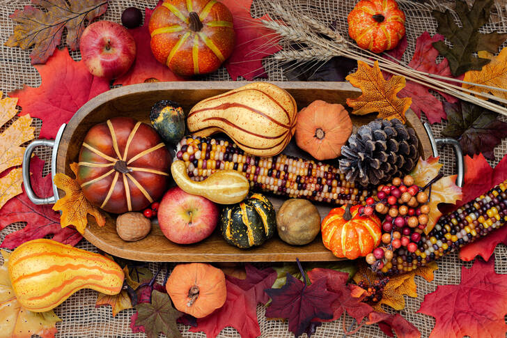
[[[167,279],[166,290],[176,309],[203,318],[226,302],[226,277],[210,264],[179,264]]]

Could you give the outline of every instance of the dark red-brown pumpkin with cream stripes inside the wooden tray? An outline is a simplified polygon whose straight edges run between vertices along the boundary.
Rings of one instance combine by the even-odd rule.
[[[166,191],[170,164],[169,151],[150,125],[111,118],[86,134],[77,181],[86,199],[103,210],[142,210]]]

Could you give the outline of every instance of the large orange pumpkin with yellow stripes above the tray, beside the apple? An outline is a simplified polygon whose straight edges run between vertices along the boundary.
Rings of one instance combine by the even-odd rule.
[[[216,0],[164,0],[148,29],[155,59],[178,75],[213,72],[233,52],[233,15]]]

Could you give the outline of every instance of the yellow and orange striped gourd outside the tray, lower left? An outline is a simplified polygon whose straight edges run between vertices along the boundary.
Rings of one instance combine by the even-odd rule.
[[[17,247],[8,271],[17,300],[32,312],[54,309],[81,289],[116,295],[124,278],[111,259],[47,239]]]

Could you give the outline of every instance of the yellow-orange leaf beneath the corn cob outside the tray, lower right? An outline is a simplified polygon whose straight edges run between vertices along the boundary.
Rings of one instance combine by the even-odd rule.
[[[404,295],[409,297],[417,297],[417,286],[414,281],[415,276],[421,276],[428,282],[433,280],[433,271],[437,270],[438,266],[435,261],[430,262],[427,266],[416,268],[401,275],[394,275],[389,278],[384,291],[382,291],[382,299],[372,305],[373,309],[378,312],[385,312],[382,309],[382,304],[392,307],[395,310],[405,309]],[[373,272],[366,263],[361,263],[359,269],[353,277],[354,282],[359,283],[365,281],[367,285],[372,285],[380,277]]]

